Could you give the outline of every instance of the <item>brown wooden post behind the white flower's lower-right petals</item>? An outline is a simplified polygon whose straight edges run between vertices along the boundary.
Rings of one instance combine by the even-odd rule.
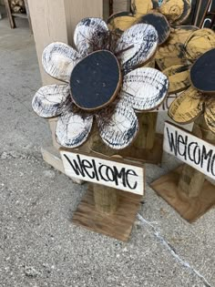
[[[134,142],[135,148],[153,149],[156,138],[158,113],[148,112],[138,116],[139,133]]]

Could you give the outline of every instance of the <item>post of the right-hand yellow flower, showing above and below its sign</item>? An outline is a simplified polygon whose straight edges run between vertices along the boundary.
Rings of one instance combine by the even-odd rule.
[[[215,135],[207,127],[203,116],[194,122],[192,133],[198,138],[215,144]],[[200,195],[204,181],[205,175],[203,173],[186,164],[179,178],[179,189],[183,190],[190,198],[195,198]]]

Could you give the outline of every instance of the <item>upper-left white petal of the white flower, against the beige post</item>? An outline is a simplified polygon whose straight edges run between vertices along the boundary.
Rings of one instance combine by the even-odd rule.
[[[42,64],[48,75],[69,82],[71,72],[81,56],[65,43],[55,42],[44,49]]]

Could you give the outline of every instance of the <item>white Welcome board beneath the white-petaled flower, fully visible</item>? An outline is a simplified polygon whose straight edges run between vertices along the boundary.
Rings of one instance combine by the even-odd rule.
[[[60,150],[67,176],[102,184],[139,195],[144,194],[144,167],[118,159],[101,159],[67,150]]]

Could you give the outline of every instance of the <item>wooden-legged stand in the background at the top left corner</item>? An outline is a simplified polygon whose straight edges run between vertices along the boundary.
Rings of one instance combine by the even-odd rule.
[[[30,30],[32,31],[31,17],[30,17],[30,13],[29,13],[27,0],[24,0],[25,6],[26,6],[26,13],[13,13],[11,11],[9,0],[4,0],[4,2],[5,2],[6,14],[8,15],[8,19],[9,19],[11,28],[12,29],[15,28],[15,17],[20,17],[20,18],[25,18],[28,20]]]

